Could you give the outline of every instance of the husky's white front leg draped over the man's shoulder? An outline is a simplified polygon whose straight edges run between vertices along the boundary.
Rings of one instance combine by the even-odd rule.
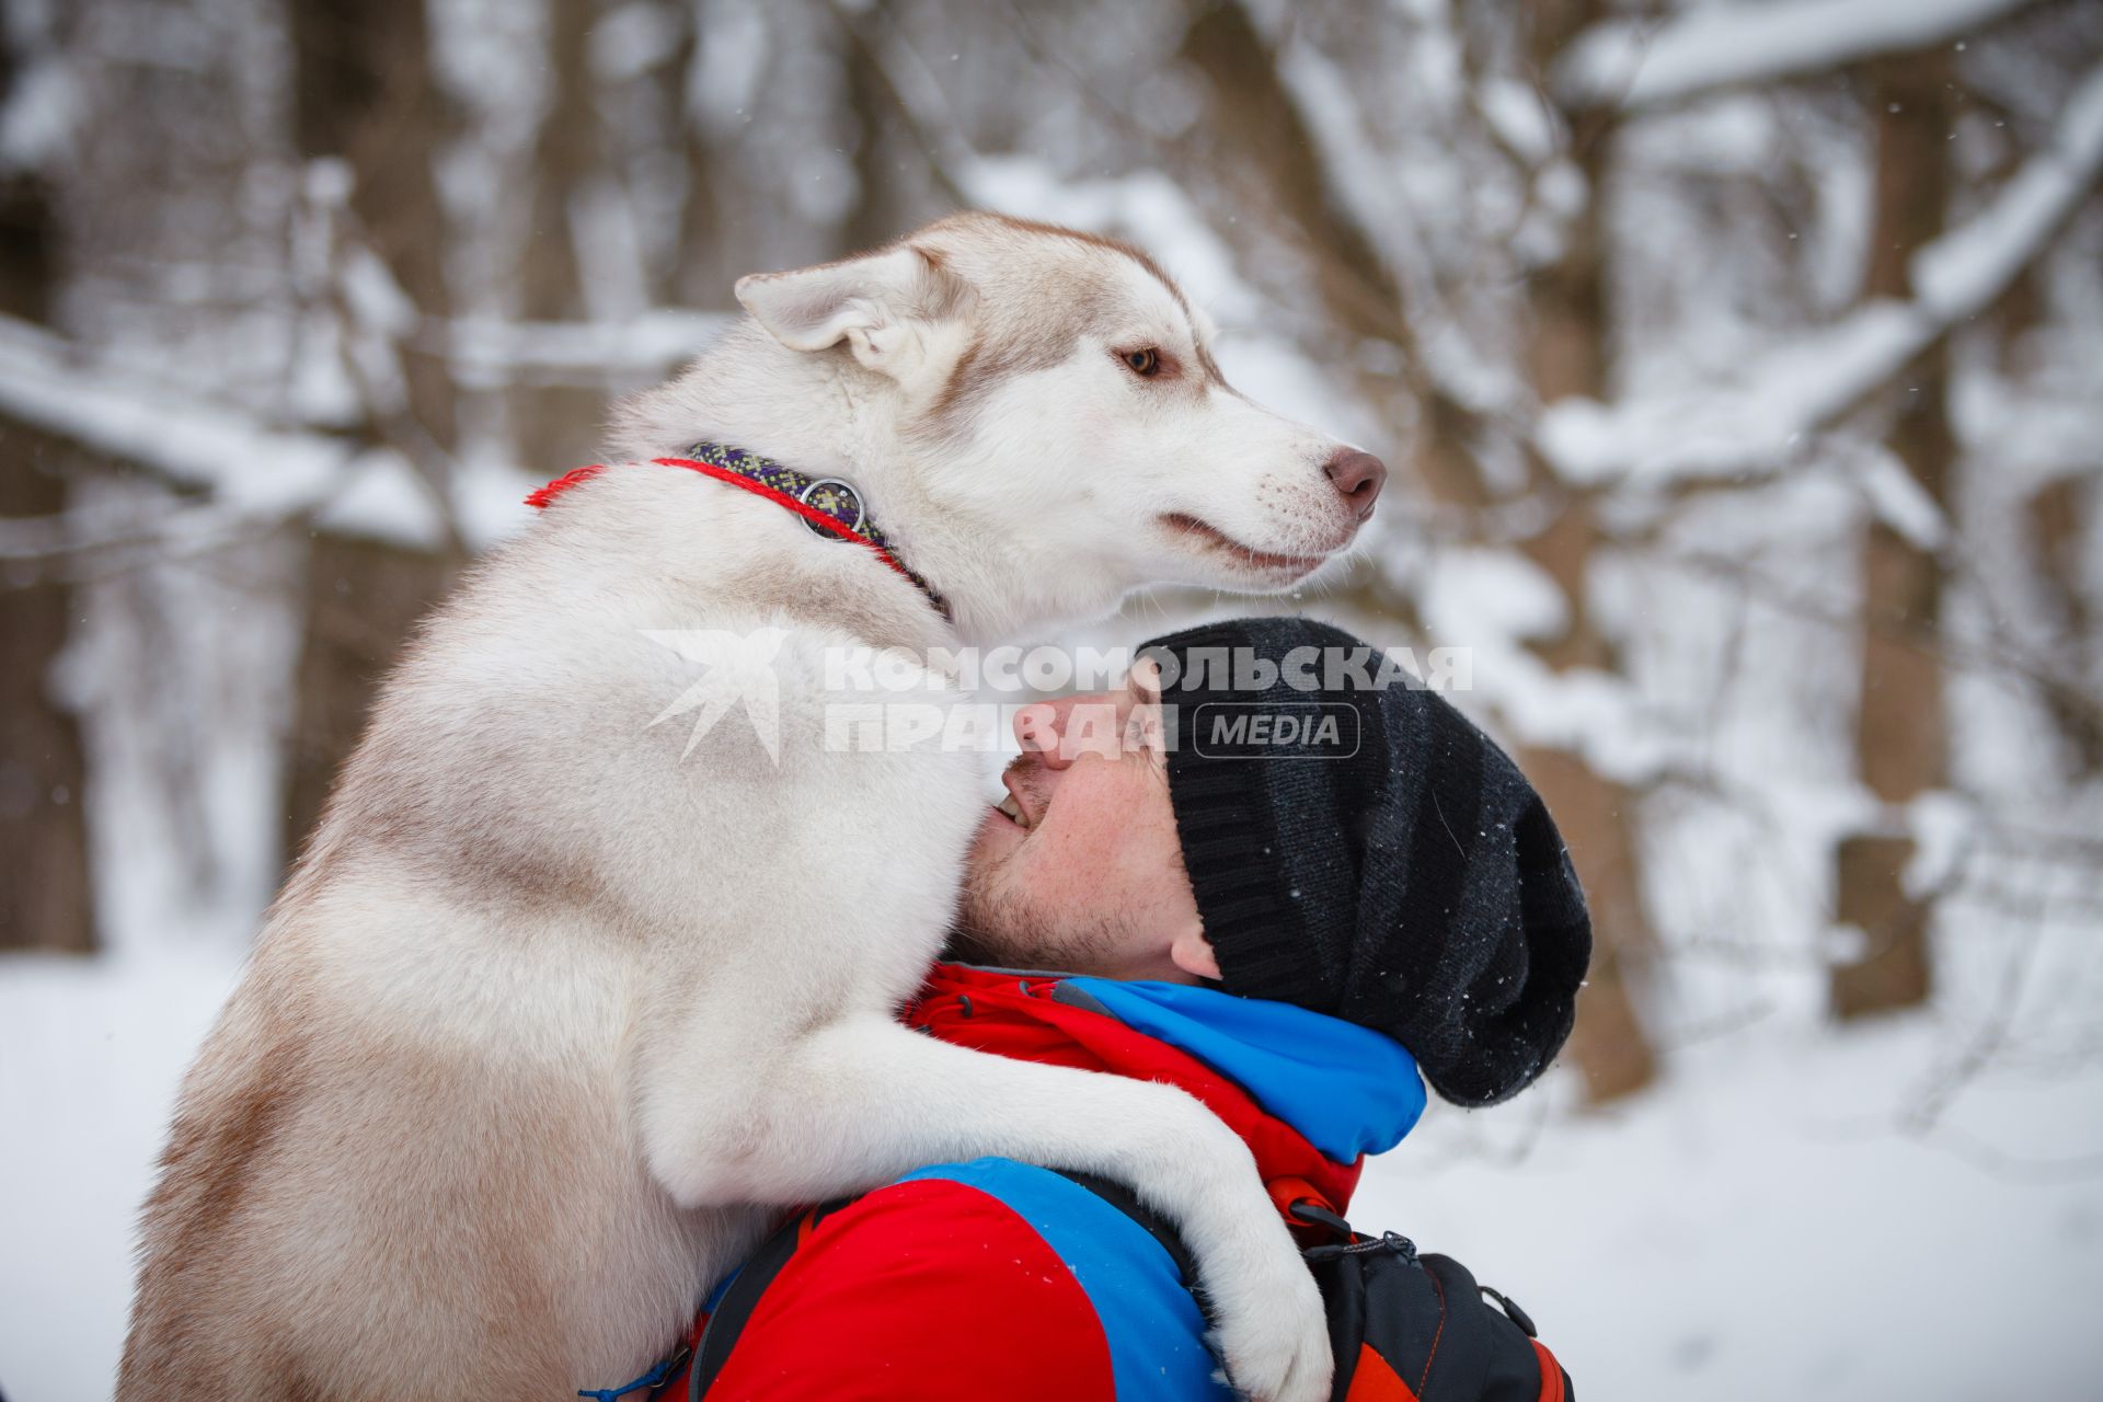
[[[1329,1396],[1314,1278],[1247,1146],[1184,1091],[967,1051],[866,1015],[747,1070],[765,1091],[742,1125],[721,1122],[721,1101],[711,1114],[683,1097],[683,1078],[646,1087],[650,1160],[683,1207],[816,1202],[982,1154],[1100,1173],[1182,1228],[1237,1387],[1260,1402]]]

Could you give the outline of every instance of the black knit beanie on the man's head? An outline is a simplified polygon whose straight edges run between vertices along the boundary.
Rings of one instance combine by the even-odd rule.
[[[1224,988],[1386,1032],[1457,1106],[1539,1076],[1569,1036],[1592,923],[1510,757],[1329,624],[1243,618],[1144,652]]]

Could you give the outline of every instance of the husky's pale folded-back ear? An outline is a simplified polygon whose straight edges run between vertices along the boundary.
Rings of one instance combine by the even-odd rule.
[[[904,380],[930,353],[927,332],[957,322],[969,288],[938,259],[898,244],[841,263],[738,277],[738,303],[791,351],[841,341],[862,366]]]

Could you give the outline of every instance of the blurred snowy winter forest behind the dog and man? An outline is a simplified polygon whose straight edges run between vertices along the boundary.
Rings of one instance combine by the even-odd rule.
[[[412,620],[744,271],[1155,250],[1398,469],[1598,961],[1359,1217],[1605,1398],[2103,1373],[2103,4],[6,0],[0,1387],[107,1391],[175,1078]],[[608,1379],[614,1383],[618,1379]]]

